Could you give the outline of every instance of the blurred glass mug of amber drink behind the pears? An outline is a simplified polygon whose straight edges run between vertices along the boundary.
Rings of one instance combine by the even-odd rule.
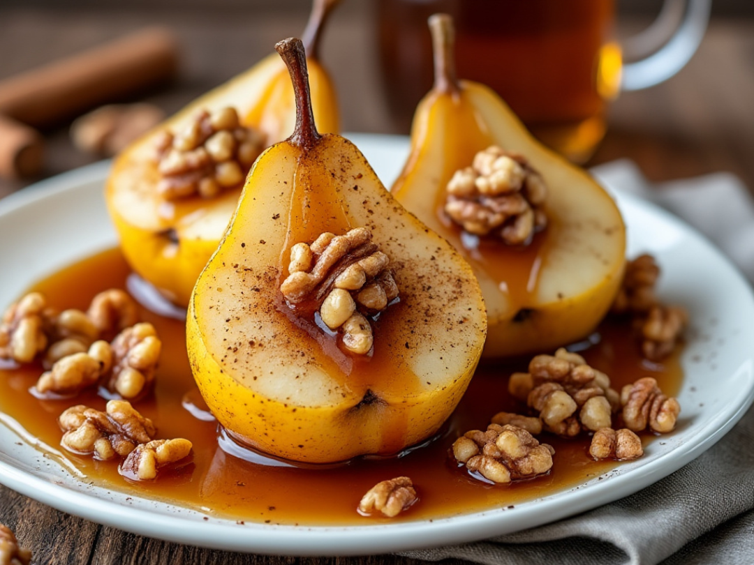
[[[455,20],[458,76],[496,90],[545,144],[576,162],[605,135],[607,104],[675,75],[699,46],[711,0],[666,0],[655,23],[624,41],[612,37],[615,0],[377,0],[388,108],[407,132],[433,81],[427,19]],[[673,36],[636,63],[657,36]]]

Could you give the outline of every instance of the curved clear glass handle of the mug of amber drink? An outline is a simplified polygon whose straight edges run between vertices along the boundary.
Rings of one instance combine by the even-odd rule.
[[[662,26],[667,15],[678,10],[684,12],[683,19],[666,44],[645,59],[623,66],[621,90],[653,87],[679,72],[691,60],[702,41],[710,20],[711,5],[712,0],[666,0],[657,23]]]

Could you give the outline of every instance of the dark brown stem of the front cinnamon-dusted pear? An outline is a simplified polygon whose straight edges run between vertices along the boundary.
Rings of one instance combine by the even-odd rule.
[[[288,138],[290,143],[301,148],[311,148],[322,139],[314,124],[314,112],[311,109],[311,93],[309,92],[309,73],[306,68],[306,50],[299,38],[287,38],[275,44],[275,50],[280,53],[293,82],[293,93],[296,95],[296,129]]]

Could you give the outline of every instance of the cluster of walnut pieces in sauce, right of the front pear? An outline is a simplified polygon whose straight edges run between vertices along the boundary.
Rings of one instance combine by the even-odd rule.
[[[562,348],[554,356],[535,356],[529,372],[511,375],[508,388],[531,415],[500,412],[486,430],[466,432],[452,445],[459,465],[496,484],[550,472],[555,450],[535,435],[592,434],[589,453],[595,460],[634,460],[644,454],[636,433],[672,431],[681,410],[654,378],[640,378],[618,392],[607,375]]]

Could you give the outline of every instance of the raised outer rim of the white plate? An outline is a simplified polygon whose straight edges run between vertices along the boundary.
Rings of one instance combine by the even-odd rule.
[[[348,137],[349,134],[345,134],[345,136]],[[407,148],[409,139],[406,136],[363,133],[353,134],[353,136],[360,139],[361,142],[365,139],[375,139],[385,145],[403,145],[403,149]],[[74,190],[84,183],[104,183],[110,164],[109,160],[93,163],[54,176],[51,179],[45,179],[23,189],[23,191],[10,194],[0,200],[0,218],[12,214],[17,209],[34,206],[52,194]],[[746,282],[737,267],[706,237],[670,212],[652,203],[631,194],[617,191],[615,188],[608,187],[608,190],[618,200],[619,205],[624,201],[633,206],[649,209],[655,215],[660,215],[664,221],[680,228],[685,235],[697,240],[697,243],[710,248],[718,258],[725,261],[736,282],[743,283],[743,286],[748,290],[749,301],[754,304],[754,293],[752,293],[749,283]],[[747,364],[749,373],[752,373],[754,362],[752,362],[750,355],[744,363],[744,365]],[[742,365],[739,370],[746,370],[746,368]],[[255,523],[240,525],[227,518],[214,517],[210,517],[207,521],[198,521],[197,516],[204,517],[201,512],[170,505],[166,502],[157,503],[168,504],[173,508],[181,509],[182,515],[174,513],[166,515],[150,512],[149,509],[145,508],[121,505],[114,499],[103,499],[97,496],[97,491],[100,489],[107,490],[106,487],[93,487],[91,491],[88,491],[88,489],[75,490],[65,484],[50,481],[44,476],[29,474],[24,469],[13,466],[2,459],[0,459],[0,483],[63,512],[78,515],[99,524],[187,545],[201,545],[201,547],[226,551],[299,556],[359,555],[415,550],[459,542],[473,542],[490,536],[523,530],[527,527],[549,524],[578,512],[587,512],[597,506],[614,502],[630,493],[648,487],[680,469],[716,444],[743,417],[743,414],[754,402],[754,384],[750,383],[746,395],[738,398],[739,402],[734,405],[726,405],[716,413],[716,417],[712,421],[697,430],[694,438],[697,438],[702,432],[706,432],[706,428],[713,426],[716,420],[724,420],[721,426],[711,430],[708,434],[704,434],[702,438],[697,438],[696,441],[692,441],[694,438],[690,438],[689,441],[679,444],[668,454],[642,463],[638,467],[642,470],[642,473],[639,473],[638,476],[632,475],[629,470],[611,477],[610,481],[589,481],[588,489],[581,490],[581,493],[577,488],[571,487],[555,495],[546,496],[544,499],[531,501],[534,504],[526,502],[511,510],[491,509],[434,520],[352,526],[295,526]],[[673,454],[673,457],[668,460],[670,454]],[[583,484],[581,483],[581,485]],[[587,492],[589,496],[582,494]],[[567,496],[571,493],[578,493],[575,495],[575,501]],[[154,499],[148,500],[152,502]],[[535,508],[535,503],[540,501],[547,502],[547,519],[544,521],[537,518],[537,515],[541,514],[541,509]],[[513,512],[516,515],[516,527],[501,527],[499,522],[506,512]],[[504,520],[507,520],[507,518]],[[173,522],[176,525],[171,527],[168,523],[172,524]],[[462,528],[461,525],[463,525]],[[428,528],[431,529],[431,536],[427,536]],[[474,533],[470,535],[467,530]],[[295,543],[291,542],[292,535],[296,536]]]

